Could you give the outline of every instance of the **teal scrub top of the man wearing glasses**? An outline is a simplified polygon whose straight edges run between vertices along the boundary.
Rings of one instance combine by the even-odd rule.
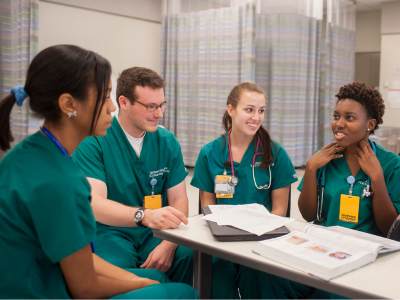
[[[73,159],[87,177],[107,185],[108,199],[134,207],[143,206],[144,196],[151,195],[153,178],[157,180],[154,194],[161,194],[162,204],[167,206],[167,190],[187,175],[180,145],[170,131],[159,126],[155,132],[146,132],[138,157],[116,118],[105,136],[86,138],[75,150]],[[98,223],[98,230],[111,227]],[[150,230],[112,228],[128,234]]]

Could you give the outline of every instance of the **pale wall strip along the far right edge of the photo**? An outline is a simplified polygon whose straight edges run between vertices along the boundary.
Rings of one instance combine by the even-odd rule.
[[[384,125],[400,127],[400,108],[390,101],[389,95],[400,89],[400,1],[383,4],[381,31],[380,90],[386,103]]]

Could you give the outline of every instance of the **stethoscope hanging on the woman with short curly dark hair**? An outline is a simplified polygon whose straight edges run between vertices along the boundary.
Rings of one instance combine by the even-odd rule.
[[[374,152],[374,154],[376,155],[376,145],[374,142],[368,140],[372,151]],[[320,172],[320,175],[318,176],[317,179],[317,222],[320,223],[322,222],[322,208],[324,205],[324,191],[325,191],[325,183],[326,183],[326,166],[322,167]],[[356,179],[353,175],[347,176],[346,178],[347,183],[350,185],[349,188],[349,194],[352,195],[353,194],[353,186],[356,182]],[[371,191],[370,191],[370,187],[371,187],[371,179],[368,177],[367,182],[360,182],[360,184],[364,185],[364,189],[363,189],[363,197],[369,197],[371,196]]]

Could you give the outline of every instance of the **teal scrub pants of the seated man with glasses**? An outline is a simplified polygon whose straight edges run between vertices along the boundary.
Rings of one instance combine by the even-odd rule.
[[[106,261],[124,269],[139,268],[149,253],[161,242],[153,237],[148,228],[125,232],[117,229],[101,229],[96,235],[96,254]],[[193,251],[184,246],[178,246],[170,269],[166,272],[174,282],[192,285]],[[144,277],[146,277],[144,275]]]

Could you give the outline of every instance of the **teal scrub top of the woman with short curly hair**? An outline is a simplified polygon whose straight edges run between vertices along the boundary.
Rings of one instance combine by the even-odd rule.
[[[390,199],[397,211],[400,212],[400,157],[380,145],[376,146],[376,156],[381,164],[385,177],[386,188]],[[317,176],[321,174],[319,169]],[[350,185],[347,177],[351,175],[350,169],[344,157],[330,161],[325,166],[325,190],[322,205],[322,222],[324,226],[339,225],[347,228],[356,229],[372,234],[382,235],[379,231],[372,210],[372,196],[363,197],[363,190],[368,183],[368,176],[360,169],[355,176],[353,185],[353,195],[360,197],[360,207],[358,223],[343,222],[339,220],[340,195],[349,194]],[[318,178],[317,177],[317,178]],[[299,191],[303,188],[303,181],[298,187]]]

